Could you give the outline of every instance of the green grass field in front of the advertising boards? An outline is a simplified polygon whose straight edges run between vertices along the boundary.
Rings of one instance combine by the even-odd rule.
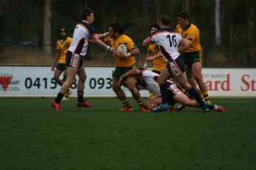
[[[115,98],[0,98],[0,169],[256,169],[256,99],[212,99],[225,113],[120,113]]]

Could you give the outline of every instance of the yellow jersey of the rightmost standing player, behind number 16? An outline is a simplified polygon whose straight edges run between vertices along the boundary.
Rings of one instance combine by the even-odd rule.
[[[178,26],[176,26],[175,32],[180,33],[182,38],[184,38],[186,42],[189,43],[189,49],[186,49],[185,52],[202,51],[200,44],[200,32],[197,26],[190,24],[189,28],[183,30],[180,24],[178,24]]]

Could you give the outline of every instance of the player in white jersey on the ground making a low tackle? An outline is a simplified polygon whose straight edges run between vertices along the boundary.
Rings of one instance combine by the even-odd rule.
[[[122,85],[122,82],[126,77],[135,76],[137,77],[137,88],[138,90],[146,90],[150,93],[153,93],[155,98],[149,99],[145,102],[146,107],[148,107],[150,110],[155,108],[155,106],[161,104],[162,98],[161,98],[161,92],[158,85],[158,77],[159,74],[156,74],[152,71],[143,69],[143,68],[137,68],[135,70],[127,71],[125,74],[121,75],[120,79],[118,80],[118,85]],[[193,106],[198,107],[198,102],[195,100],[189,99],[186,94],[182,93],[180,89],[178,89],[178,86],[175,84],[175,82],[172,82],[170,80],[166,80],[166,87],[167,87],[167,102],[169,105],[173,106],[176,102],[181,103],[182,105],[186,106]],[[223,111],[223,107],[215,105],[215,108],[213,109],[218,112]]]

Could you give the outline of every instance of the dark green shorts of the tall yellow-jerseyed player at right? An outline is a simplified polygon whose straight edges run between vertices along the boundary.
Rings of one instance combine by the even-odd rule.
[[[184,60],[186,66],[188,66],[188,71],[186,71],[186,77],[193,77],[192,74],[192,65],[194,63],[200,62],[203,63],[203,52],[186,52],[181,54],[181,57]]]

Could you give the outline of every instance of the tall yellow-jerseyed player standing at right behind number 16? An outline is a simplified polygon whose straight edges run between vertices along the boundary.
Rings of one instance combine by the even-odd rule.
[[[183,58],[186,67],[188,68],[187,77],[191,85],[195,85],[195,81],[198,83],[200,91],[206,102],[211,103],[206,84],[203,82],[202,77],[202,63],[203,63],[203,51],[200,43],[200,32],[197,26],[190,23],[190,15],[186,11],[178,13],[178,26],[176,26],[176,32],[189,43],[189,48],[186,49],[181,57]]]

